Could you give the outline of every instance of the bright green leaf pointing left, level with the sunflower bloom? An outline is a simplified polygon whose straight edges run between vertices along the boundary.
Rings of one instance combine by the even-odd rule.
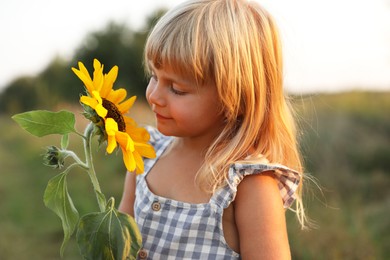
[[[75,116],[69,111],[35,110],[12,116],[24,130],[38,137],[50,134],[68,134],[74,129]]]

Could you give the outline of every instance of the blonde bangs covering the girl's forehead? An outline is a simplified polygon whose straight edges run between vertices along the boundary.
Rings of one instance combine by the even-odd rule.
[[[203,85],[213,81],[213,62],[204,41],[208,37],[200,29],[202,14],[195,14],[190,7],[181,13],[168,12],[159,20],[146,42],[144,63],[149,74],[151,64],[158,69],[169,67],[179,76]]]

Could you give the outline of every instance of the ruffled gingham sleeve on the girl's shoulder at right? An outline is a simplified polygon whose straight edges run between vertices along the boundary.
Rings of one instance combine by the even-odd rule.
[[[228,185],[219,192],[216,200],[219,201],[219,204],[222,204],[223,208],[226,208],[234,201],[237,187],[245,176],[270,171],[274,173],[279,181],[278,186],[284,208],[289,208],[296,198],[295,192],[301,176],[297,171],[279,164],[233,164],[229,169]]]

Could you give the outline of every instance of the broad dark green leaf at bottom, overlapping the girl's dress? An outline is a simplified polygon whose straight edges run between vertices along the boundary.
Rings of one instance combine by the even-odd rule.
[[[77,243],[84,259],[136,259],[142,238],[129,215],[114,207],[113,198],[106,211],[83,216],[77,229]]]

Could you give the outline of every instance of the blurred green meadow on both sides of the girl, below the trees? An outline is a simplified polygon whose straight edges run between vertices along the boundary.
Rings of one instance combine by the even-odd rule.
[[[293,105],[306,171],[315,179],[305,183],[315,226],[301,230],[287,212],[293,259],[390,259],[390,92],[296,96]],[[81,107],[65,108],[78,115],[82,131],[87,121]],[[142,103],[132,115],[152,122]],[[0,136],[0,259],[61,259],[61,223],[42,201],[48,180],[59,173],[42,164],[42,154],[48,145],[59,146],[60,137],[34,137],[4,114]],[[106,155],[96,143],[102,190],[118,204],[125,177],[121,153]],[[80,144],[71,136],[71,148],[82,154]],[[81,214],[98,210],[85,172],[71,172],[68,181]],[[74,238],[63,259],[80,259]]]

